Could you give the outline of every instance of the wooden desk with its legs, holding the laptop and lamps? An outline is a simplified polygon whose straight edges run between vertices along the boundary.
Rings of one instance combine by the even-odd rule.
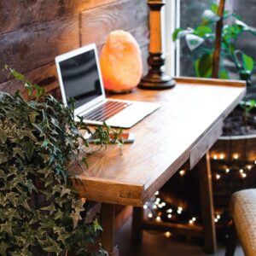
[[[113,96],[127,100],[158,102],[161,107],[129,131],[135,143],[125,144],[123,154],[116,145],[92,154],[86,175],[73,179],[79,195],[102,202],[102,243],[110,253],[113,246],[113,207],[131,205],[133,241],[142,240],[143,204],[189,160],[198,162],[201,183],[201,211],[205,250],[214,253],[216,237],[209,159],[203,157],[222,133],[224,118],[245,95],[245,83],[216,79],[178,78],[172,90],[139,90]],[[79,171],[73,166],[72,171]],[[149,224],[150,225],[150,224]],[[181,227],[182,228],[182,227]],[[117,251],[115,251],[117,252]]]

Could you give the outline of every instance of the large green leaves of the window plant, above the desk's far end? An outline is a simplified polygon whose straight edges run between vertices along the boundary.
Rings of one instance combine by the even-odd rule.
[[[172,34],[173,41],[184,38],[195,56],[194,67],[197,77],[210,78],[212,76],[212,55],[215,42],[215,26],[220,19],[218,5],[212,3],[211,9],[204,11],[201,25],[195,28],[177,28]],[[221,35],[220,79],[229,79],[228,70],[224,67],[224,60],[232,61],[241,79],[248,80],[253,72],[254,61],[241,49],[237,49],[237,40],[243,32],[256,35],[256,29],[248,26],[241,17],[224,10],[224,27]]]

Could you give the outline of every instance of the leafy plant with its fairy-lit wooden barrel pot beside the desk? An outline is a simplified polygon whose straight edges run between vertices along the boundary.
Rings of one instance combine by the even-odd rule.
[[[232,62],[240,79],[247,81],[247,96],[224,121],[224,135],[210,152],[215,203],[227,216],[225,212],[228,212],[230,195],[237,189],[254,187],[256,182],[252,172],[256,164],[256,96],[253,94],[255,86],[251,84],[254,60],[237,49],[237,41],[242,34],[248,32],[255,36],[256,29],[248,26],[238,15],[224,10],[223,0],[219,4],[213,3],[211,9],[204,11],[200,26],[177,28],[172,38],[174,41],[186,40],[194,58],[197,77],[230,79],[226,63]],[[217,76],[214,74],[216,52],[219,53]],[[229,218],[222,219],[225,222]]]

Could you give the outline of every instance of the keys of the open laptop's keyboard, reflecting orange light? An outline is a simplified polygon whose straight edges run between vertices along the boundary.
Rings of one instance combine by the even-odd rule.
[[[84,119],[91,121],[104,122],[110,119],[114,114],[119,113],[125,108],[131,106],[132,103],[128,102],[115,102],[108,101],[101,106],[92,109],[89,113],[84,114]]]

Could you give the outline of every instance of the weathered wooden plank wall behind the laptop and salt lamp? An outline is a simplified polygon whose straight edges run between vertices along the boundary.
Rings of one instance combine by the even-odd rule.
[[[1,0],[0,24],[0,70],[8,64],[56,97],[55,56],[90,43],[100,51],[116,29],[137,39],[147,69],[146,0]],[[23,85],[0,74],[0,90],[18,89],[26,95]]]

